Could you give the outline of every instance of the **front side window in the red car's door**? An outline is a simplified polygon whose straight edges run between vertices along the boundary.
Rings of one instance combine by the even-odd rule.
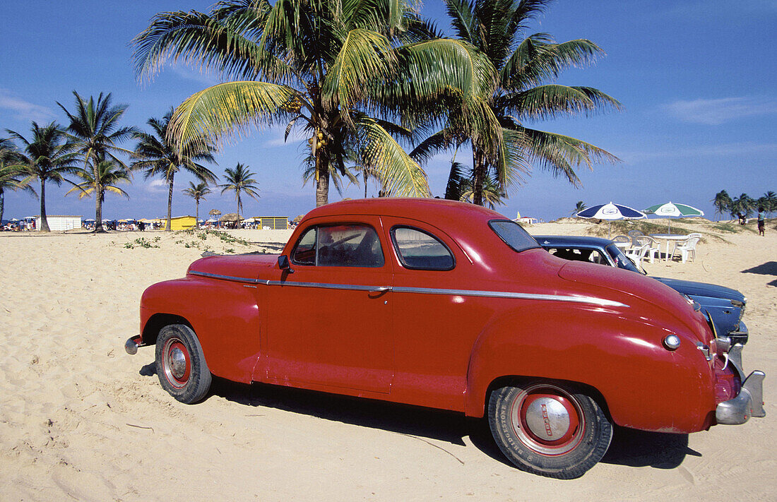
[[[383,267],[378,234],[368,225],[329,225],[309,229],[291,252],[298,265]]]

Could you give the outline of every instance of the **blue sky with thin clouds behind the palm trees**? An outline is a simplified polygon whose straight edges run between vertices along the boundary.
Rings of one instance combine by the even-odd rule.
[[[144,127],[149,117],[162,117],[193,92],[218,83],[218,75],[169,65],[153,82],[138,83],[131,61],[131,39],[157,12],[207,12],[210,6],[200,0],[7,0],[0,19],[0,136],[12,129],[29,138],[31,120],[64,124],[56,103],[72,109],[74,90],[81,96],[112,92],[114,103],[129,105],[122,124]],[[424,2],[421,12],[449,30],[438,0]],[[712,218],[709,200],[720,190],[751,197],[777,191],[775,28],[773,0],[552,3],[531,33],[550,33],[558,41],[587,38],[607,53],[594,66],[566,71],[558,82],[601,89],[625,110],[528,125],[589,141],[622,162],[592,171],[580,167],[580,189],[535,169],[497,211],[550,220],[569,215],[577,200],[589,206],[612,200],[637,209],[672,200]],[[247,164],[261,197],[246,198],[244,213],[294,218],[315,207],[313,183],[302,186],[306,146],[304,138],[284,144],[282,131],[255,131],[225,145],[213,170],[221,175],[225,167]],[[460,153],[457,159],[470,158]],[[450,161],[446,153],[425,166],[434,195],[444,193]],[[181,193],[189,181],[176,177],[173,215],[194,213],[193,200]],[[166,214],[162,180],[138,175],[124,188],[131,198],[106,195],[104,218]],[[47,187],[47,213],[93,218],[94,200],[64,197],[66,190]],[[377,190],[368,187],[371,196]],[[219,191],[201,203],[200,215],[214,208],[235,211],[234,196]],[[363,194],[363,187],[342,196],[332,190],[329,200]],[[4,218],[38,212],[30,195],[6,193]]]

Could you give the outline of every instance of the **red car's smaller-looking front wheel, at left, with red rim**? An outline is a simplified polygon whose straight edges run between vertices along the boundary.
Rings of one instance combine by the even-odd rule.
[[[156,373],[159,383],[181,403],[197,403],[211,388],[211,371],[189,326],[172,324],[159,331],[156,340]]]

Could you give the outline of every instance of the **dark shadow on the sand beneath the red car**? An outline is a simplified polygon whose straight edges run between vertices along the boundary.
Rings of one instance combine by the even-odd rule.
[[[154,376],[155,364],[146,364],[139,372],[144,376]],[[487,420],[464,417],[460,413],[279,385],[246,385],[215,377],[208,396],[220,396],[243,406],[274,408],[406,435],[448,452],[462,464],[464,462],[445,449],[444,444],[434,444],[427,440],[463,446],[466,444],[464,439],[469,437],[479,451],[497,462],[512,466],[494,443]],[[674,469],[681,465],[686,455],[701,456],[699,452],[688,448],[688,434],[663,434],[615,427],[610,448],[601,462]]]

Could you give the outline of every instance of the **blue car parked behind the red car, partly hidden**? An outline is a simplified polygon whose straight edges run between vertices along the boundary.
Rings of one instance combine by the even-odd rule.
[[[637,267],[611,240],[581,235],[535,235],[534,237],[540,246],[559,258],[599,263],[646,275],[646,272]],[[742,322],[747,298],[744,298],[739,291],[704,282],[681,281],[666,277],[653,277],[653,279],[699,302],[702,309],[705,309],[713,319],[718,333],[729,336],[732,343],[747,343],[747,326]]]

